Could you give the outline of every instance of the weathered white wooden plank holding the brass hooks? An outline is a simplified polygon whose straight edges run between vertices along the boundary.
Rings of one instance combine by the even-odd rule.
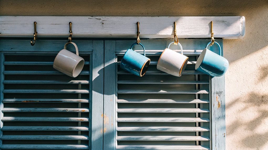
[[[215,38],[237,39],[244,36],[243,16],[215,17],[93,17],[93,16],[1,16],[0,36],[32,37],[36,21],[38,37],[69,35],[73,37],[136,37],[136,22],[140,22],[140,38],[173,38],[173,22],[180,38],[209,38],[213,21]],[[23,30],[22,30],[23,27]],[[90,28],[88,28],[90,27]],[[228,30],[226,30],[228,29]]]

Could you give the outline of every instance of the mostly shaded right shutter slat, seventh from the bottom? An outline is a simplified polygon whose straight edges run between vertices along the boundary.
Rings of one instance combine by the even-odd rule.
[[[209,94],[207,90],[176,90],[176,89],[152,89],[152,90],[118,90],[118,94]]]

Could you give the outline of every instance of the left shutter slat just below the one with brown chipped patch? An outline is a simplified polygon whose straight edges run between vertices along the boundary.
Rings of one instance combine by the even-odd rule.
[[[89,112],[85,108],[3,108],[2,112]]]

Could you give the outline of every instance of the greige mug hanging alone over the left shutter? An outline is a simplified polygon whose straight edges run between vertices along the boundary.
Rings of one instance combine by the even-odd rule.
[[[68,44],[75,46],[76,54],[66,50]],[[77,77],[84,67],[85,60],[79,56],[78,48],[75,43],[68,42],[64,45],[64,49],[59,51],[53,62],[53,68],[70,76]]]

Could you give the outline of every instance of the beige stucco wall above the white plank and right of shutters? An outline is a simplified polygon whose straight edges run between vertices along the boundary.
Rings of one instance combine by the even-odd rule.
[[[245,16],[245,37],[224,40],[226,149],[268,149],[267,0],[0,0],[0,15]]]

